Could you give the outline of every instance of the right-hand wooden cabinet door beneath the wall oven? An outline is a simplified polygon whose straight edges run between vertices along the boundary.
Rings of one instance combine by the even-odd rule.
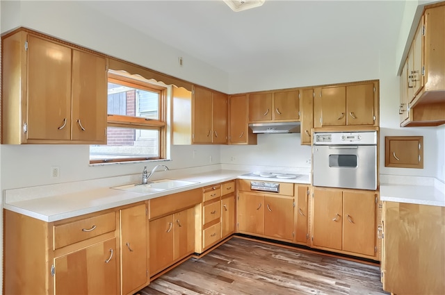
[[[343,192],[343,251],[374,256],[375,192]]]

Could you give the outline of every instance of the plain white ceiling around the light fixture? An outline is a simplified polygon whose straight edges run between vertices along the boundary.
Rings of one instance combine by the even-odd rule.
[[[106,3],[104,5],[104,3]],[[394,49],[405,1],[88,1],[88,6],[228,74]],[[186,62],[186,60],[184,60]]]

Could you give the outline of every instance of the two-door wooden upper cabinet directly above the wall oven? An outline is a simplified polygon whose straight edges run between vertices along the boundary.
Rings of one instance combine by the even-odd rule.
[[[378,126],[378,82],[321,87],[314,127]]]

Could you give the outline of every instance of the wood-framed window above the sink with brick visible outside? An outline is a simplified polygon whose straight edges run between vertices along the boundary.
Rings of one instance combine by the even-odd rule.
[[[90,163],[165,158],[167,88],[108,73],[106,145],[90,145]]]

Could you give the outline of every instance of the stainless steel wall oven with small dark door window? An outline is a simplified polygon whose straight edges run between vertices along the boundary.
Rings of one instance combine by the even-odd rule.
[[[312,184],[377,189],[377,131],[314,133]]]

